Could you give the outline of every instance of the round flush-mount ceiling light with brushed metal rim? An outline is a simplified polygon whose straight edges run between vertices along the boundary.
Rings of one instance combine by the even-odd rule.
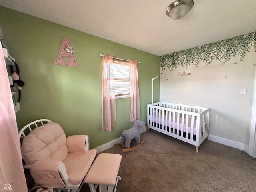
[[[190,11],[193,5],[193,0],[176,0],[167,7],[166,14],[172,19],[179,20]]]

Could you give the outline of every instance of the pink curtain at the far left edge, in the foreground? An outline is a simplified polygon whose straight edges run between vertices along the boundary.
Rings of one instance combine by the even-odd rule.
[[[0,44],[0,188],[28,192],[8,74]]]

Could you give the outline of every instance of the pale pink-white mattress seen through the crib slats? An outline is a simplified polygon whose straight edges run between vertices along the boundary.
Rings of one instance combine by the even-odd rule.
[[[164,120],[162,119],[164,118]],[[169,118],[171,120],[169,120]],[[173,123],[175,118],[175,123]],[[152,120],[152,122],[156,123],[156,124],[161,124],[167,127],[171,127],[174,129],[179,129],[180,131],[182,131],[182,126],[183,126],[183,132],[186,132],[187,127],[188,127],[188,133],[191,134],[191,118],[188,118],[188,123],[187,123],[187,118],[184,117],[183,118],[183,125],[182,125],[182,117],[179,117],[179,122],[178,122],[178,117],[177,116],[169,116],[167,115],[167,121],[166,121],[166,115],[150,115],[148,116],[149,120]],[[150,122],[151,123],[151,122]],[[193,125],[192,125],[192,129],[193,129],[193,134],[196,134],[196,120],[194,120]]]

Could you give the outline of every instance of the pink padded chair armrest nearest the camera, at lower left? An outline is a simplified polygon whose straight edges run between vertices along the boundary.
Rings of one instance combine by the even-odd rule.
[[[38,160],[31,166],[34,182],[46,188],[65,187],[68,180],[65,164],[58,160]]]

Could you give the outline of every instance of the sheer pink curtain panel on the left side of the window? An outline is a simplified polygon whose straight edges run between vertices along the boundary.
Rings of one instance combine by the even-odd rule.
[[[111,131],[116,124],[116,96],[113,76],[113,56],[104,54],[102,58],[102,130]]]

